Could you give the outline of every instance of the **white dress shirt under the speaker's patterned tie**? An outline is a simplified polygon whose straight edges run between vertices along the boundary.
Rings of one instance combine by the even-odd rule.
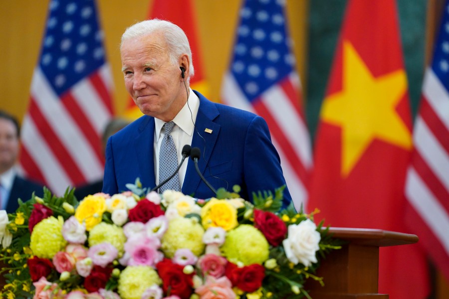
[[[170,134],[173,138],[173,142],[176,146],[176,152],[178,153],[178,164],[182,159],[182,150],[185,145],[192,145],[192,139],[195,129],[195,121],[197,119],[198,108],[200,107],[200,99],[198,96],[189,88],[189,99],[187,100],[184,107],[173,119],[175,127],[173,127],[172,133]],[[156,185],[159,184],[159,151],[161,149],[162,140],[165,136],[165,130],[162,130],[165,122],[160,119],[155,118],[154,127],[154,173],[156,177]],[[188,158],[186,158],[187,160]],[[187,171],[187,162],[184,161],[183,165],[179,169],[179,180],[180,188],[183,188],[184,178]]]

